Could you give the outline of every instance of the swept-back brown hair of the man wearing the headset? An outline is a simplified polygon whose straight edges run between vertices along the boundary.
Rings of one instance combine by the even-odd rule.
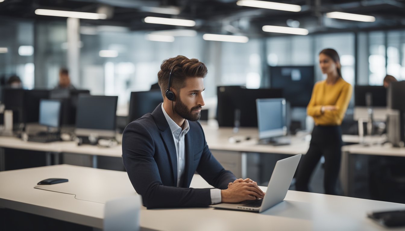
[[[162,65],[160,65],[160,71],[158,73],[158,83],[162,90],[163,97],[165,97],[164,92],[168,87],[169,74],[172,68],[171,87],[176,89],[177,93],[179,89],[184,87],[185,78],[204,78],[208,72],[205,64],[198,59],[189,59],[183,55],[177,55],[174,58],[164,60]]]

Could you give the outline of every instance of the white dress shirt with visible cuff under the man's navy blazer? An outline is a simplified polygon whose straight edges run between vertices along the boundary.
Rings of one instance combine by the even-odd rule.
[[[188,120],[184,120],[183,129],[177,125],[172,118],[169,117],[166,110],[163,108],[162,104],[162,111],[164,117],[166,118],[167,123],[173,134],[173,140],[176,146],[176,153],[177,153],[177,187],[181,185],[184,180],[184,168],[185,168],[185,144],[184,144],[184,137],[185,134],[190,130],[190,126],[188,124]],[[221,190],[220,189],[211,189],[211,203],[216,204],[221,202]]]

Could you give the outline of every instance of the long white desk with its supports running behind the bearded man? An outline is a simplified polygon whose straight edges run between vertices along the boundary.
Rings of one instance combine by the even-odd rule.
[[[228,170],[231,170],[237,177],[246,178],[247,174],[247,153],[277,153],[277,154],[305,154],[309,148],[309,140],[304,136],[292,136],[290,145],[273,146],[258,144],[257,128],[241,128],[237,134],[234,134],[232,128],[215,127],[203,125],[205,137],[213,155]],[[231,143],[229,138],[234,137],[242,139],[241,142]],[[249,140],[245,140],[249,137]],[[345,142],[356,142],[358,136],[343,135]],[[377,140],[377,138],[373,138]],[[97,156],[118,157],[122,156],[121,144],[103,148],[93,145],[77,146],[75,142],[24,142],[14,137],[0,137],[0,171],[4,170],[4,148],[17,148],[25,150],[38,150],[47,153],[47,165],[51,165],[51,155],[54,155],[55,162],[58,164],[59,153],[75,153],[92,156],[92,166],[97,167]],[[249,174],[251,175],[251,174]]]

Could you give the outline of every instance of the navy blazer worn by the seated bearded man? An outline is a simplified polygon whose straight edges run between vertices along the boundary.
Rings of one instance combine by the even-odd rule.
[[[162,106],[131,122],[122,136],[122,159],[134,189],[147,208],[206,207],[210,189],[190,187],[194,172],[209,184],[227,189],[236,177],[213,157],[200,123],[188,121],[185,135],[185,173],[177,187],[177,153]]]

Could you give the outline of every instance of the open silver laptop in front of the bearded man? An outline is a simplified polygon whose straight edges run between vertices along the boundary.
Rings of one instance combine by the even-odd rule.
[[[211,207],[247,212],[263,212],[275,206],[286,197],[300,159],[301,154],[298,154],[277,161],[263,199],[242,201],[241,203],[219,203],[211,205]]]

